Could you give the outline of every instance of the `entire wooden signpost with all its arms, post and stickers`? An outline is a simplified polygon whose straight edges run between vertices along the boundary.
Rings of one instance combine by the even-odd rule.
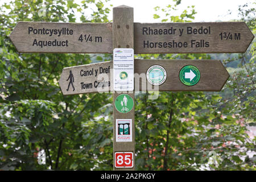
[[[133,53],[245,52],[254,35],[244,22],[134,23],[133,8],[118,6],[113,23],[19,22],[10,38],[18,52],[115,50],[114,61],[64,68],[59,85],[64,95],[113,93],[113,169],[134,170],[134,92],[220,91],[229,73],[220,60],[134,60]],[[134,89],[116,92],[126,91],[129,76]]]

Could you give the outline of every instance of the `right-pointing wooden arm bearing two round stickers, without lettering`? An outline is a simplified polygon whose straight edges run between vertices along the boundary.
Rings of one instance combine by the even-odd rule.
[[[220,60],[135,60],[134,68],[135,90],[144,91],[220,91],[229,78]]]

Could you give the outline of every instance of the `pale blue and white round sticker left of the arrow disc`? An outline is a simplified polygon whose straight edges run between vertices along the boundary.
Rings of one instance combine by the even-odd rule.
[[[166,70],[160,65],[153,65],[147,69],[147,81],[152,85],[162,85],[166,77]]]

